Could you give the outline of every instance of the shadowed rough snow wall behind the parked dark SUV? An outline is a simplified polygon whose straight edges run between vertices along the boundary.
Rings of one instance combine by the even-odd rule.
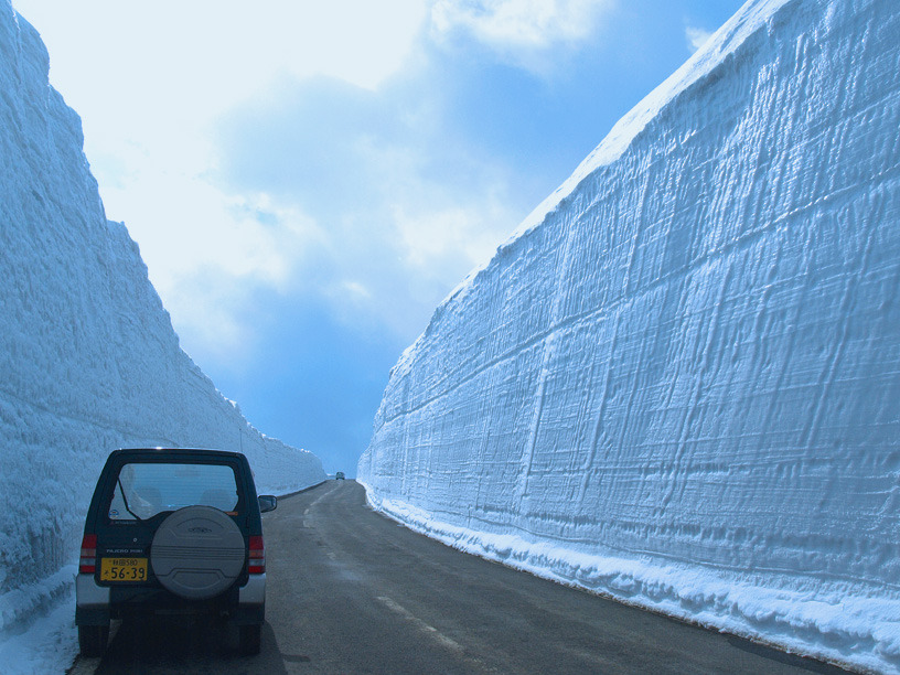
[[[0,0],[0,631],[71,586],[110,450],[243,451],[258,489],[280,494],[325,479],[181,351],[47,71],[36,31]]]

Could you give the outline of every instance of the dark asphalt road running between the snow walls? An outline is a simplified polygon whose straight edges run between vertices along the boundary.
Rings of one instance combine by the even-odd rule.
[[[94,672],[843,673],[448,548],[366,508],[353,481],[279,500],[264,532],[261,654],[167,617],[122,623]]]

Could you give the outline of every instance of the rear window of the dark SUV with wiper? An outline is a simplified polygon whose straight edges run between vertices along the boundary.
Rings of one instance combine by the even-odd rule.
[[[235,472],[227,464],[133,462],[119,470],[109,519],[146,519],[195,504],[233,513],[237,502]]]

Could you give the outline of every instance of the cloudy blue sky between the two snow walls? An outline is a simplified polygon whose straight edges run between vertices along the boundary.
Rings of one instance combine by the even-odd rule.
[[[182,349],[355,475],[400,353],[741,0],[13,0]]]

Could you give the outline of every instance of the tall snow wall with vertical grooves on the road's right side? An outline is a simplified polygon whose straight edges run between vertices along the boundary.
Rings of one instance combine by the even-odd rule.
[[[898,73],[896,0],[748,2],[437,309],[371,504],[900,672]]]

